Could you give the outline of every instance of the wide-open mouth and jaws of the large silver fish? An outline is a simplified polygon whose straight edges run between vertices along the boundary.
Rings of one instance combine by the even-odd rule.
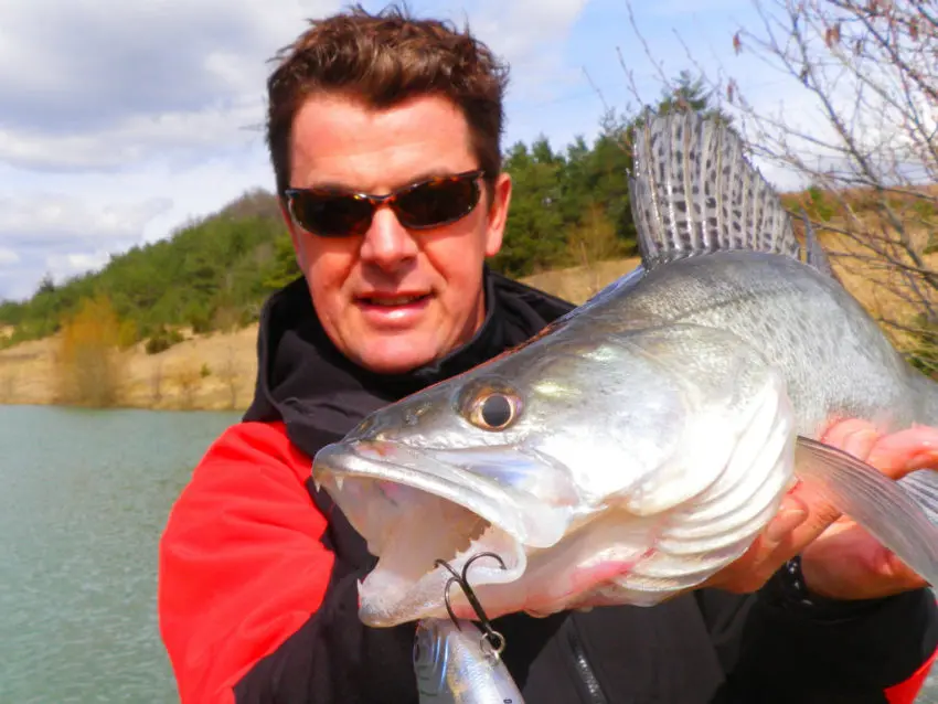
[[[535,495],[524,481],[553,474],[558,493]],[[573,515],[573,489],[559,471],[516,449],[427,450],[384,440],[347,440],[322,448],[312,478],[324,488],[379,558],[359,585],[361,620],[393,626],[447,615],[444,595],[452,576],[436,561],[468,575],[473,587],[519,579],[532,552],[561,541]],[[520,486],[519,483],[520,482]],[[551,482],[547,482],[551,486]],[[459,589],[452,606],[468,602]]]

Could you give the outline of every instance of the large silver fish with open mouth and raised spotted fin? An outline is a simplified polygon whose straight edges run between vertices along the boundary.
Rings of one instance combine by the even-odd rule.
[[[473,566],[491,618],[654,606],[743,555],[798,482],[938,584],[938,472],[894,481],[820,441],[839,418],[936,425],[938,384],[801,245],[725,121],[649,114],[629,186],[635,270],[313,457],[377,557],[365,625],[444,617],[436,561],[480,552],[503,561]]]

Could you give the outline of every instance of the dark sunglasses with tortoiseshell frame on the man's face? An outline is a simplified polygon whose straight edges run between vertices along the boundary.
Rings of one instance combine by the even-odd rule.
[[[452,175],[433,177],[392,191],[370,195],[333,189],[287,189],[287,207],[294,221],[321,237],[363,235],[375,211],[387,205],[408,230],[429,230],[455,223],[479,204],[482,190],[477,169]]]

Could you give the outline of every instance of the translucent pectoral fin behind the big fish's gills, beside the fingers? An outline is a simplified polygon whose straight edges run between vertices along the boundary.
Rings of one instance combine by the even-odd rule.
[[[929,519],[938,516],[936,482],[907,478],[904,488],[852,455],[803,437],[795,459],[799,479],[938,586],[938,523]]]

